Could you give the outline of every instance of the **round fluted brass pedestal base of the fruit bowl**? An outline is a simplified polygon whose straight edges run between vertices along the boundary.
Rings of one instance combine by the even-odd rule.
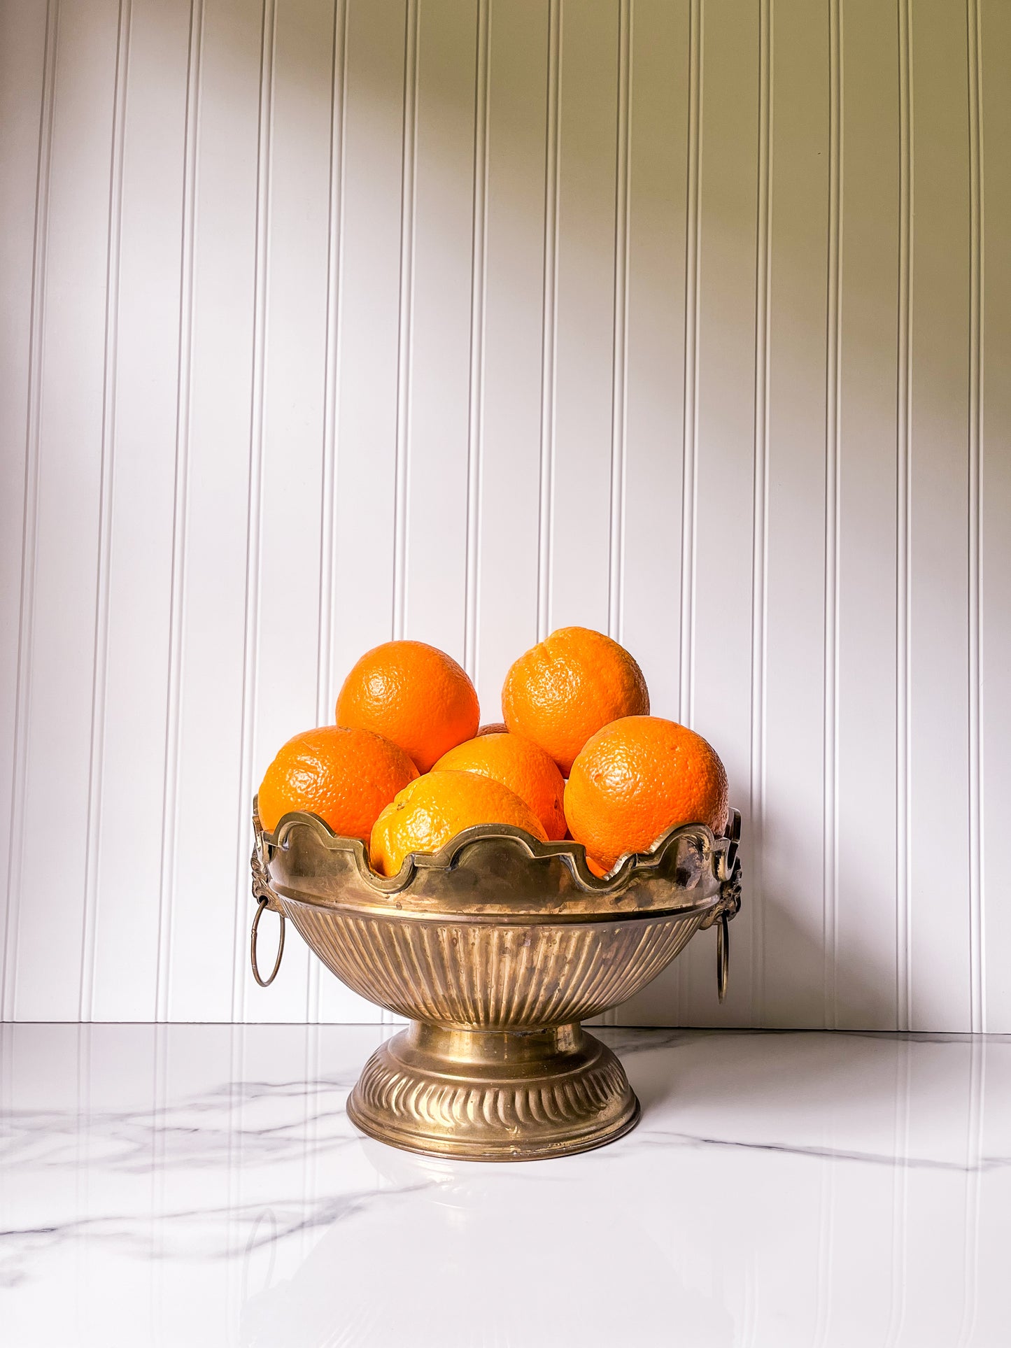
[[[613,1142],[639,1122],[639,1101],[611,1049],[578,1023],[449,1030],[414,1020],[368,1060],[348,1116],[406,1151],[534,1161]]]

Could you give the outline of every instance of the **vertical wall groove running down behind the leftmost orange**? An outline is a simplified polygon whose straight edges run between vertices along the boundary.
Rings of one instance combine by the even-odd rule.
[[[334,0],[330,73],[330,177],[326,216],[326,338],[324,346],[324,443],[319,480],[319,624],[315,720],[333,720],[333,603],[337,520],[337,380],[341,356],[340,302],[344,276],[344,92],[346,88],[348,0]],[[319,1019],[319,961],[309,961],[307,1018]]]

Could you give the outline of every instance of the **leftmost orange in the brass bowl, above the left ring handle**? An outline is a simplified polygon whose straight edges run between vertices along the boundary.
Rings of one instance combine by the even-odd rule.
[[[318,814],[341,837],[368,841],[383,806],[418,768],[402,748],[371,731],[321,725],[280,748],[260,783],[260,824],[268,833],[288,810]]]

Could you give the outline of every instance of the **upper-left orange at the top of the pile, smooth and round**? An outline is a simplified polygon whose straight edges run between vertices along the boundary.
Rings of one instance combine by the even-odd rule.
[[[454,744],[473,739],[477,693],[445,651],[425,642],[386,642],[367,651],[337,697],[337,724],[375,731],[427,772]]]

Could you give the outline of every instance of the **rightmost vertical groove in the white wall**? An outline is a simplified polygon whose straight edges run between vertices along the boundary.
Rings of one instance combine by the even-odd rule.
[[[969,980],[971,1026],[987,1029],[983,894],[983,735],[980,687],[981,530],[980,411],[983,383],[983,89],[980,7],[967,0],[969,59]]]

